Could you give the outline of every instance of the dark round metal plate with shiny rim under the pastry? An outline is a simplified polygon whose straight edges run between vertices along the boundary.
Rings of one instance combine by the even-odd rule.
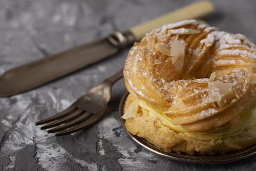
[[[179,160],[183,162],[190,162],[190,163],[204,163],[204,164],[214,164],[214,163],[227,163],[227,162],[232,162],[232,161],[237,161],[241,160],[247,157],[250,157],[256,153],[256,145],[249,146],[248,148],[245,148],[243,150],[240,150],[238,152],[233,152],[225,155],[187,155],[187,154],[176,154],[176,153],[171,153],[171,152],[165,152],[159,148],[157,148],[155,145],[147,142],[147,140],[138,137],[136,135],[132,135],[127,131],[127,129],[124,126],[125,119],[122,119],[123,115],[123,109],[124,109],[124,103],[129,95],[128,92],[126,92],[119,105],[119,118],[121,120],[121,124],[125,130],[125,132],[130,136],[131,139],[133,139],[135,142],[146,148],[147,150],[152,151],[153,153],[156,153],[158,155],[174,159],[174,160]]]

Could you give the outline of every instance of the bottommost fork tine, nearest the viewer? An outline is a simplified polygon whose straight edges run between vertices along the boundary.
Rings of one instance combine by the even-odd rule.
[[[76,132],[76,131],[79,131],[81,129],[87,128],[87,127],[91,126],[92,124],[94,124],[96,121],[98,121],[101,116],[102,115],[95,115],[94,114],[92,117],[90,117],[88,120],[84,121],[83,123],[81,123],[81,124],[79,124],[79,125],[77,125],[73,128],[70,128],[66,131],[61,131],[61,132],[55,134],[55,136],[71,134],[73,132]]]

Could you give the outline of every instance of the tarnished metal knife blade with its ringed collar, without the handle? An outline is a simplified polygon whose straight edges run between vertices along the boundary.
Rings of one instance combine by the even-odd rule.
[[[129,33],[115,32],[102,40],[11,69],[0,77],[0,97],[31,90],[111,56],[134,42],[129,38]]]

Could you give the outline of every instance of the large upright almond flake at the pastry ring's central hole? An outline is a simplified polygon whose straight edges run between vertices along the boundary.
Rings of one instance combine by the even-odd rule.
[[[180,71],[184,65],[185,48],[179,41],[175,40],[170,48],[170,56],[172,56],[172,63],[176,71]]]

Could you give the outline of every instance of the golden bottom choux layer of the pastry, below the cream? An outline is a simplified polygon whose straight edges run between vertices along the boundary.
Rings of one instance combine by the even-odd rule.
[[[125,102],[124,112],[134,99],[131,94]],[[185,134],[179,134],[162,124],[157,117],[148,115],[146,110],[138,110],[137,116],[126,119],[126,129],[134,135],[145,138],[166,152],[186,154],[223,154],[240,150],[256,142],[255,122],[251,122],[242,133],[220,139],[199,140]]]

